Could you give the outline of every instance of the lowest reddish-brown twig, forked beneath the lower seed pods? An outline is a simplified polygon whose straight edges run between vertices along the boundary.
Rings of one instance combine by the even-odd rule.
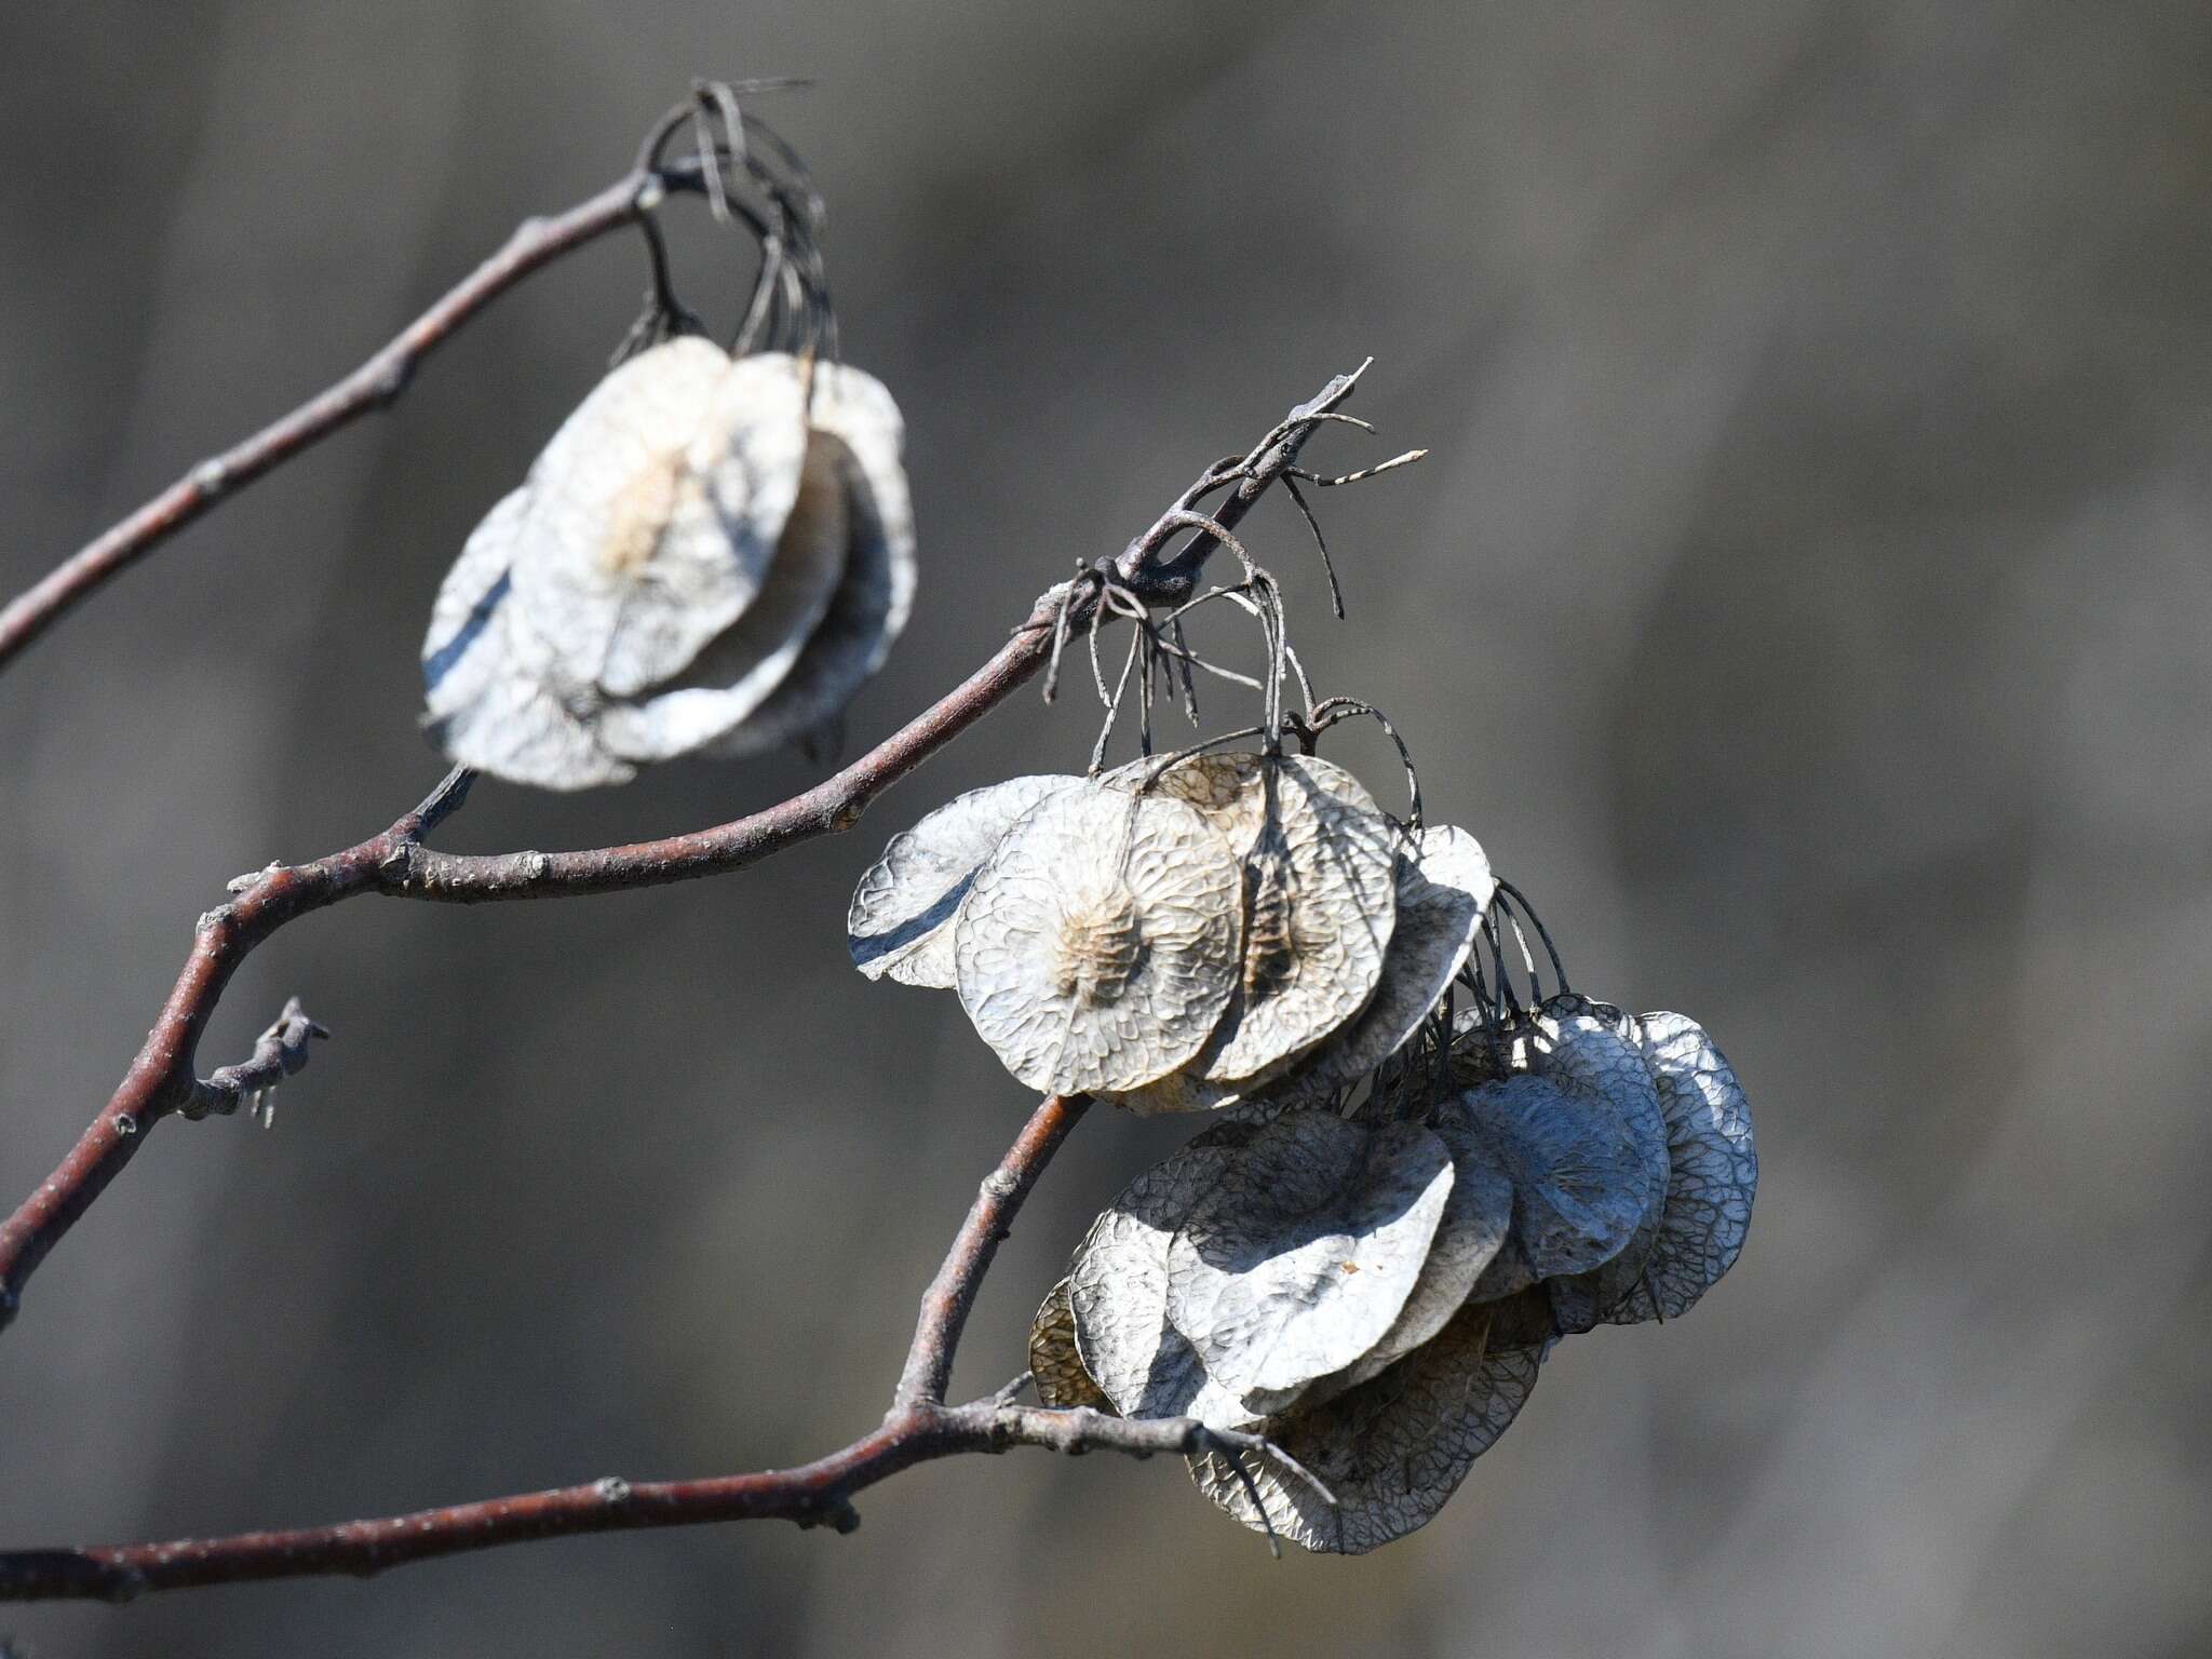
[[[188,1537],[166,1544],[35,1548],[0,1553],[0,1601],[128,1601],[148,1590],[241,1584],[281,1577],[367,1577],[389,1566],[440,1555],[641,1526],[699,1526],[728,1520],[790,1520],[849,1533],[860,1524],[852,1498],[902,1469],[962,1453],[1042,1447],[1060,1453],[1119,1451],[1274,1455],[1267,1440],[1208,1429],[1192,1418],[1124,1420],[1102,1411],[1055,1411],[1015,1405],[1009,1385],[969,1405],[942,1405],[953,1352],[982,1276],[1006,1237],[1022,1199],[1035,1186],[1068,1130],[1082,1119],[1082,1097],[1048,1097],[984,1179],[945,1267],[922,1296],[920,1321],[898,1396],[883,1427],[799,1469],[772,1469],[710,1480],[630,1482],[619,1475],[551,1491],[487,1498],[383,1520],[303,1526],[299,1531]],[[1303,1473],[1303,1471],[1296,1471]]]

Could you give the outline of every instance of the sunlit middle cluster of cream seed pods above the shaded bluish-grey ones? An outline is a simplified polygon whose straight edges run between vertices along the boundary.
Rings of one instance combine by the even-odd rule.
[[[1489,896],[1473,836],[1402,830],[1329,761],[1197,754],[960,796],[860,878],[847,936],[869,978],[958,987],[1031,1088],[1210,1110],[1380,1064]]]

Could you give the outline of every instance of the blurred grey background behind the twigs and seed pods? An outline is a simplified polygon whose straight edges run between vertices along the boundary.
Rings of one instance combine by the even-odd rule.
[[[1316,445],[1352,619],[1254,518],[1325,690],[1588,989],[1759,1110],[1736,1274],[1568,1343],[1425,1533],[1267,1562],[1170,1464],[907,1473],[854,1537],[535,1544],[356,1584],[7,1610],[80,1655],[2185,1655],[2212,1641],[2212,13],[1969,0],[823,9],[416,0],[0,18],[0,586],[321,387],[695,73],[832,199],[927,580],[874,741],[1075,557],[1374,354]],[[723,250],[670,215],[728,319]],[[0,1188],[69,1146],[221,883],[438,774],[445,564],[597,376],[635,237],[0,677]],[[717,288],[717,285],[723,288]],[[1230,723],[1234,695],[1210,714]],[[336,1029],[276,1130],[170,1124],[0,1340],[0,1540],[305,1524],[787,1464],[869,1427],[1026,1108],[852,880],[1079,765],[1033,697],[852,836],[557,905],[361,900],[252,958]],[[1365,745],[1365,748],[1363,748]],[[1371,739],[1345,750],[1387,783]],[[728,818],[796,759],[442,841]],[[960,1387],[1188,1133],[1093,1113]]]

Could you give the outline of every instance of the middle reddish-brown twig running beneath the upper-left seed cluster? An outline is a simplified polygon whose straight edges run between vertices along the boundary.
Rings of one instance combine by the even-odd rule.
[[[1296,462],[1298,447],[1318,422],[1316,411],[1332,409],[1349,394],[1352,376],[1336,376],[1267,434],[1248,458],[1237,493],[1214,511],[1219,529],[1232,529],[1267,482]],[[1190,568],[1201,568],[1210,549],[1201,535],[1177,553],[1177,562],[1199,557],[1201,564]],[[1181,577],[1175,582],[1181,584]],[[1102,586],[1099,580],[1086,584]],[[1124,586],[1146,593],[1152,586],[1150,568],[1137,564]],[[1088,606],[1095,602],[1097,593],[1077,602],[1077,624],[1088,622]],[[15,1316],[24,1281],[137,1155],[146,1130],[197,1099],[192,1066],[199,1035],[239,962],[279,927],[361,894],[480,905],[659,887],[743,869],[803,841],[852,830],[878,794],[1006,701],[1044,666],[1064,611],[1062,588],[1040,595],[1029,619],[991,661],[843,772],[710,830],[588,852],[434,852],[422,845],[422,836],[460,810],[469,790],[469,774],[456,772],[378,836],[305,865],[279,863],[234,880],[230,902],[199,918],[184,973],[106,1108],[38,1192],[0,1223],[0,1329]]]

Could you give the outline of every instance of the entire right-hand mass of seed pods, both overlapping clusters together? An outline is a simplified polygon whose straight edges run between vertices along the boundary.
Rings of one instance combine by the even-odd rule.
[[[854,894],[860,971],[958,987],[1022,1082],[1217,1113],[1091,1228],[1031,1369],[1046,1405],[1265,1436],[1281,1462],[1192,1475],[1314,1551],[1422,1526],[1553,1343],[1688,1312],[1750,1225],[1712,1040],[1500,995],[1495,891],[1473,836],[1327,761],[1206,754],[978,790]]]

